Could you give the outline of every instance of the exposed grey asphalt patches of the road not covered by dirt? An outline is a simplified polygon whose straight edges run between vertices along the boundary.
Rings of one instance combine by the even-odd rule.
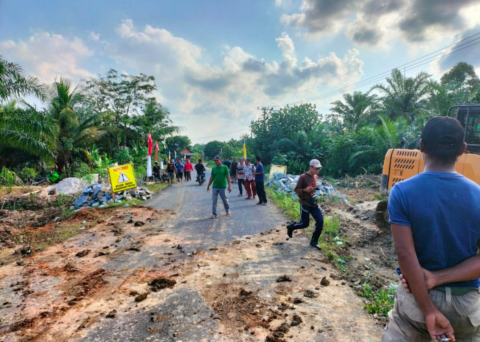
[[[207,169],[207,180],[210,177]],[[193,172],[195,174],[195,172]],[[184,253],[182,258],[189,258],[193,250],[202,250],[227,245],[245,235],[255,235],[269,231],[279,224],[287,222],[287,218],[280,210],[269,203],[266,206],[256,205],[256,200],[245,200],[245,189],[243,196],[239,196],[238,183],[232,183],[232,192],[228,194],[231,215],[226,216],[221,199],[218,200],[216,219],[212,215],[212,195],[206,192],[206,185],[198,185],[195,176],[192,181],[174,183],[163,192],[154,196],[151,200],[143,203],[145,206],[152,206],[156,209],[171,209],[177,213],[175,218],[169,222],[167,227],[163,226],[165,233],[173,234],[182,242]],[[133,239],[134,237],[132,237]],[[128,239],[122,244],[130,244]],[[298,248],[302,239],[292,248],[290,257],[300,259],[304,251]],[[304,241],[302,241],[304,243]],[[230,245],[230,247],[232,247]],[[281,249],[285,246],[279,246]],[[235,247],[232,247],[235,248]],[[149,267],[152,261],[152,254],[158,250],[142,249],[134,254],[123,254],[115,260],[103,265],[108,272],[119,272],[118,269],[139,269]],[[297,255],[298,254],[298,255]],[[251,269],[252,274],[264,274],[265,267],[272,267],[270,263],[277,263],[278,266],[287,262],[283,257],[263,263],[245,263],[245,267]],[[285,264],[286,265],[286,264]],[[288,267],[291,267],[289,265]],[[270,282],[275,280],[269,279]],[[268,287],[265,286],[265,289]],[[169,313],[170,317],[163,324],[167,327],[175,327],[181,330],[180,336],[171,337],[167,330],[152,334],[149,326],[152,321],[149,317],[157,313]],[[214,319],[215,312],[210,308],[195,289],[177,289],[174,287],[171,294],[158,302],[153,309],[133,309],[128,314],[122,314],[117,319],[104,320],[101,324],[93,326],[86,333],[81,341],[220,341],[223,339],[212,336],[212,332],[219,330],[219,320]]]

